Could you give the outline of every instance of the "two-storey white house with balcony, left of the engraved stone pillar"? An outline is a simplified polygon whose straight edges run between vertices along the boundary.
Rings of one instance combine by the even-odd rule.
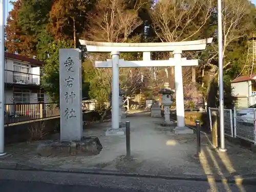
[[[6,104],[50,102],[40,88],[40,75],[44,64],[36,59],[5,53]]]

